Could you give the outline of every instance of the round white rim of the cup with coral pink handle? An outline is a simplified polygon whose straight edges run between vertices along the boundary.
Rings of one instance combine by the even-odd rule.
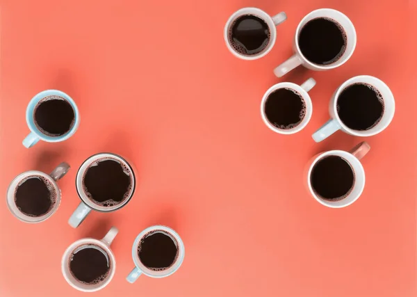
[[[359,172],[355,172],[355,173],[359,173],[362,176],[363,186],[361,186],[361,188],[359,189],[359,193],[357,194],[357,197],[350,200],[349,202],[345,202],[343,204],[338,205],[338,204],[334,204],[331,201],[324,200],[324,199],[318,197],[318,195],[316,195],[316,193],[314,193],[313,186],[311,186],[311,172],[313,171],[313,168],[316,165],[316,163],[325,156],[341,156],[343,159],[347,159],[347,161],[349,163],[351,163],[352,160],[355,160],[354,162],[357,162],[359,164]],[[363,169],[363,165],[362,165],[361,161],[359,161],[359,159],[357,159],[357,157],[354,156],[353,154],[351,154],[350,152],[346,152],[344,150],[329,150],[327,152],[322,152],[322,153],[318,154],[316,157],[314,157],[313,161],[311,162],[311,164],[309,166],[309,171],[307,172],[307,186],[309,188],[310,194],[313,196],[313,198],[316,201],[318,201],[320,204],[324,205],[325,207],[343,208],[343,207],[349,206],[353,202],[357,201],[359,199],[359,197],[361,197],[361,195],[363,193],[363,189],[365,188],[365,184],[366,184],[365,170]],[[337,202],[341,202],[341,201],[346,200],[346,199],[347,199],[347,197],[343,198],[342,200],[338,200]]]

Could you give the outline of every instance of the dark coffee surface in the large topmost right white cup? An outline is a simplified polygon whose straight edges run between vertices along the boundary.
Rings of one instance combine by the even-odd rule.
[[[346,49],[345,32],[332,19],[311,19],[301,29],[298,45],[312,63],[327,65],[336,62]]]

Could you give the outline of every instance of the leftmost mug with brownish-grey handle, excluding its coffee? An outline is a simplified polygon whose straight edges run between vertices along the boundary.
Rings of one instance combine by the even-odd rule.
[[[8,186],[6,195],[7,206],[10,212],[13,214],[13,216],[18,218],[19,220],[22,220],[25,223],[40,223],[52,216],[53,214],[55,214],[56,210],[59,207],[61,199],[60,188],[57,182],[68,172],[68,170],[70,170],[70,165],[63,162],[60,163],[54,170],[52,170],[52,172],[49,175],[47,173],[37,170],[30,170],[17,175],[17,177],[15,177],[15,179],[13,179],[13,181]],[[17,188],[21,184],[26,182],[26,180],[29,178],[41,179],[47,185],[52,196],[51,207],[45,214],[42,214],[41,216],[33,216],[30,214],[26,214],[16,205],[15,194]]]

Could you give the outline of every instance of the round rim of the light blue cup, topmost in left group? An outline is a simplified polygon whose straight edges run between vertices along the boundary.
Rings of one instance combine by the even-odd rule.
[[[33,114],[31,113],[31,111],[33,111],[34,109],[34,107],[33,109],[31,108],[31,105],[38,104],[38,102],[40,102],[40,100],[42,100],[44,97],[54,96],[54,95],[63,97],[65,100],[67,100],[67,102],[70,102],[72,109],[74,109],[74,126],[72,126],[70,131],[67,131],[66,134],[62,136],[57,136],[57,137],[47,136],[43,134],[38,128],[34,127],[35,125],[31,124],[31,119],[33,119]],[[68,138],[74,135],[74,133],[76,132],[76,130],[78,129],[80,125],[79,110],[78,110],[78,107],[76,106],[76,103],[74,102],[74,99],[72,99],[70,95],[67,95],[67,93],[64,93],[63,91],[60,91],[60,90],[54,90],[54,89],[42,90],[42,92],[32,97],[31,101],[28,103],[28,106],[26,107],[26,125],[28,125],[29,130],[33,134],[36,134],[36,136],[38,136],[38,138],[40,138],[42,141],[46,141],[48,143],[58,143],[60,141],[66,141]]]

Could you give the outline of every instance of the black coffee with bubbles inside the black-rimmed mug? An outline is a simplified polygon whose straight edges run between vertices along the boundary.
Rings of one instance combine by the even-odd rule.
[[[113,207],[131,197],[133,172],[116,159],[98,159],[84,172],[83,190],[95,204]]]

